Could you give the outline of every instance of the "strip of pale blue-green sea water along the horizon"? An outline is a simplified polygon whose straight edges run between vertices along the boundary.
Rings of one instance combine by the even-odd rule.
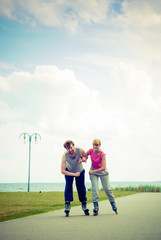
[[[91,188],[91,183],[86,182],[86,189]],[[111,187],[125,187],[125,186],[139,186],[139,185],[153,185],[161,186],[161,181],[158,182],[111,182]],[[101,188],[101,183],[99,183]],[[28,184],[27,183],[0,183],[0,192],[27,192]],[[55,192],[55,191],[64,191],[65,182],[60,183],[31,183],[30,191],[31,192]],[[74,184],[74,190],[75,190]]]

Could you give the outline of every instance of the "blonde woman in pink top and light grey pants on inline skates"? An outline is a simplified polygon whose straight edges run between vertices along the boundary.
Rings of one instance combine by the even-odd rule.
[[[105,193],[111,203],[113,211],[117,214],[117,207],[115,203],[115,198],[112,193],[112,189],[109,181],[109,173],[106,170],[106,155],[100,149],[101,141],[95,139],[93,141],[93,148],[89,149],[86,153],[87,157],[91,157],[91,168],[89,171],[90,180],[92,184],[92,201],[94,204],[93,214],[98,215],[98,179],[100,178],[102,187],[105,190]]]

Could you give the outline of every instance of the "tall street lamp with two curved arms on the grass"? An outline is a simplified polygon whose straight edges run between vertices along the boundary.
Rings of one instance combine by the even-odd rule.
[[[32,135],[29,135],[28,133],[21,133],[19,136],[19,139],[24,139],[24,143],[26,143],[27,138],[29,139],[29,172],[28,172],[28,192],[30,191],[30,159],[31,159],[31,140],[32,137],[34,137],[35,143],[38,143],[38,140],[41,140],[41,136],[38,133],[33,133]]]

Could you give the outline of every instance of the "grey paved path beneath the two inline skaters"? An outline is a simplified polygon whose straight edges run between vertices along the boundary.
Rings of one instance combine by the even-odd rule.
[[[73,207],[0,223],[1,240],[161,240],[161,193],[118,198],[116,215],[108,201],[99,203],[98,216],[84,216]]]

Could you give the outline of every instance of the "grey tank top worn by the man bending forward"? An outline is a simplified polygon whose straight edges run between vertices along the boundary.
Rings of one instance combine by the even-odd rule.
[[[79,148],[76,148],[76,152],[77,152],[77,154],[74,159],[70,158],[67,152],[65,153],[65,156],[67,159],[66,167],[69,172],[73,172],[73,173],[82,172],[84,170],[82,163],[81,164],[78,163],[79,158],[80,158]]]

